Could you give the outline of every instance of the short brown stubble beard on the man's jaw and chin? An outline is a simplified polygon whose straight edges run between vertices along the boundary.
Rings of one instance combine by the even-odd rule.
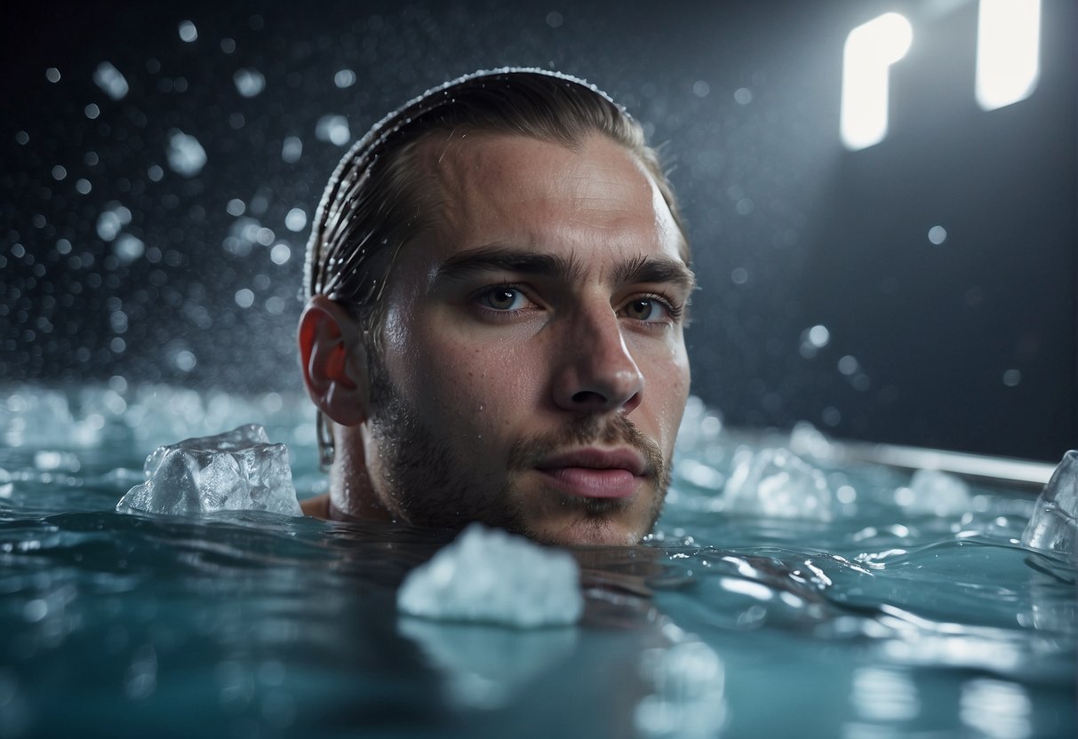
[[[503,479],[492,491],[489,484],[478,478],[474,466],[457,457],[433,433],[383,368],[371,367],[371,401],[376,409],[371,418],[371,432],[377,441],[381,470],[381,484],[376,483],[375,489],[399,520],[452,529],[482,521],[538,541],[554,542],[556,535],[543,528],[542,521],[528,520],[525,501],[521,500],[513,480],[534,471],[544,457],[598,443],[628,446],[647,462],[651,502],[645,525],[635,539],[651,531],[659,519],[669,486],[669,462],[659,445],[624,416],[582,414],[563,429],[516,441],[506,459]],[[476,450],[481,448],[479,443]],[[373,477],[372,461],[368,460],[368,472]],[[575,514],[580,524],[596,530],[623,516],[632,505],[630,499],[582,498],[553,491],[550,500],[559,506],[559,513]]]

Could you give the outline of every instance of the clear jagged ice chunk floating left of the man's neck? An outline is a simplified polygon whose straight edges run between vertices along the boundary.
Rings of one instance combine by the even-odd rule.
[[[288,449],[271,444],[265,429],[254,423],[160,446],[146,458],[143,471],[148,479],[128,490],[116,511],[177,516],[217,511],[302,515]]]

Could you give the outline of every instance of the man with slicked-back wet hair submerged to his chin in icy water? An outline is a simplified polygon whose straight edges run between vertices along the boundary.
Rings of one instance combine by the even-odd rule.
[[[639,125],[579,80],[478,73],[378,123],[307,254],[323,518],[633,544],[669,482],[694,285]]]

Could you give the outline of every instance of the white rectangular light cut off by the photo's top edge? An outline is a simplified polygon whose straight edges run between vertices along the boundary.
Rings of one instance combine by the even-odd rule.
[[[981,0],[977,102],[995,110],[1024,100],[1040,76],[1040,0]]]

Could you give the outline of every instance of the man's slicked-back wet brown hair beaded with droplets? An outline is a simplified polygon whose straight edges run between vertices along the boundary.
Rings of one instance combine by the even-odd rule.
[[[438,193],[418,164],[431,134],[523,136],[579,148],[593,134],[634,154],[654,178],[688,239],[669,182],[644,129],[625,109],[586,82],[539,69],[475,72],[428,90],[379,121],[345,154],[322,194],[307,242],[304,292],[326,295],[360,321],[377,364],[382,291],[401,247],[437,227]],[[319,417],[323,465],[332,440]]]

